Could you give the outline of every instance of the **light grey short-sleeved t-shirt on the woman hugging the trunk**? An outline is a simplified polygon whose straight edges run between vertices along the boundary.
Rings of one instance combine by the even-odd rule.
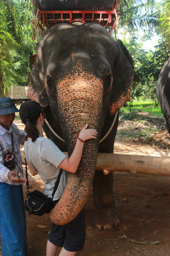
[[[60,173],[59,164],[66,157],[59,148],[47,138],[40,136],[34,142],[30,139],[24,143],[24,153],[33,169],[44,181],[44,195],[51,197],[55,182]],[[53,200],[58,200],[63,194],[68,172],[63,170],[60,183]]]

